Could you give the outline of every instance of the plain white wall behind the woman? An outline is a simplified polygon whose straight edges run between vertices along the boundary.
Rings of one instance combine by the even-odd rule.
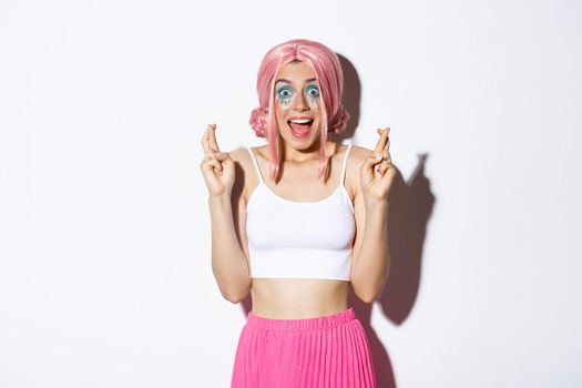
[[[357,74],[344,142],[391,127],[380,381],[580,387],[581,33],[579,1],[1,1],[0,387],[228,386],[200,139],[264,144],[293,38]]]

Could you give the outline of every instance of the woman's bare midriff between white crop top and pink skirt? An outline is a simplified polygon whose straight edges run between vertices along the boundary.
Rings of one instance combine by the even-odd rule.
[[[349,282],[253,278],[253,314],[272,319],[305,319],[349,308]]]

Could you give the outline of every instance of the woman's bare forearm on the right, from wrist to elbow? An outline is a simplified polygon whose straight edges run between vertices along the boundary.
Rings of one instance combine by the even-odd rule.
[[[389,270],[388,203],[367,204],[364,237],[351,278],[354,292],[364,302],[374,302],[381,295]]]

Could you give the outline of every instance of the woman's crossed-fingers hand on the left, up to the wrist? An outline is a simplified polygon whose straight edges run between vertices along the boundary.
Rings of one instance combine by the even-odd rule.
[[[211,196],[231,195],[234,186],[234,161],[216,143],[216,124],[208,124],[202,136],[204,160],[200,164]]]

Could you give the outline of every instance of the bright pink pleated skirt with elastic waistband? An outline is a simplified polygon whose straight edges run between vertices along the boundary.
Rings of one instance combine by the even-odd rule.
[[[370,346],[350,307],[308,319],[248,313],[232,388],[376,387]]]

